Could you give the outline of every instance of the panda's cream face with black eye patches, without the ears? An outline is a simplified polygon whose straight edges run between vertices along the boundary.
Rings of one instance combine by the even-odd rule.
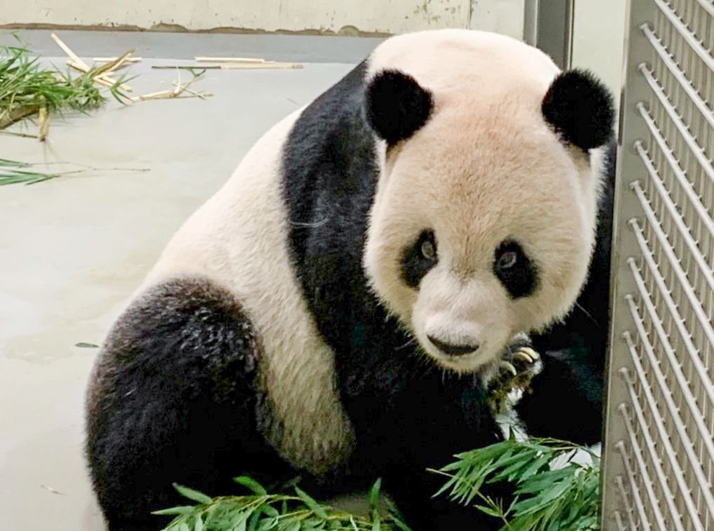
[[[386,149],[366,273],[444,368],[490,364],[517,333],[564,315],[585,280],[600,152],[588,160],[558,140],[543,93],[492,106],[436,93],[426,125]]]

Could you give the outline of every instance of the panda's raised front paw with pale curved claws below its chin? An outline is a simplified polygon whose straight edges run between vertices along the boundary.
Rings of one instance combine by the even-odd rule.
[[[531,389],[531,380],[543,370],[540,354],[525,336],[508,345],[486,382],[488,401],[494,413],[504,413]]]

